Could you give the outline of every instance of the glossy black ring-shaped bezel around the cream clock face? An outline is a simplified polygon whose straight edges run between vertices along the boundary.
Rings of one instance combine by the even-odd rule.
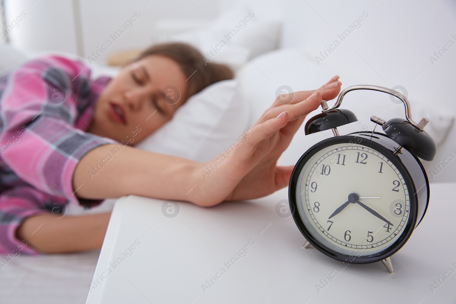
[[[367,255],[367,256],[352,256],[352,255],[346,255],[342,254],[340,252],[336,252],[332,249],[329,249],[322,245],[318,240],[316,240],[315,237],[307,230],[303,220],[301,219],[301,216],[299,215],[299,212],[296,212],[298,210],[297,208],[297,199],[296,199],[296,186],[297,182],[299,179],[299,175],[301,174],[301,171],[303,167],[306,165],[306,162],[311,159],[313,155],[318,153],[321,149],[325,149],[328,146],[334,145],[334,144],[360,144],[364,145],[366,147],[369,147],[371,149],[375,149],[385,157],[387,157],[399,170],[401,173],[402,177],[405,180],[405,183],[407,185],[407,188],[409,189],[409,201],[410,201],[410,209],[409,209],[409,219],[404,226],[404,232],[399,236],[399,238],[392,243],[389,247],[385,248],[384,250],[374,253],[372,255]],[[358,136],[350,136],[350,135],[344,135],[344,136],[337,136],[337,137],[332,137],[328,139],[324,139],[321,142],[314,144],[310,149],[304,153],[301,158],[298,160],[298,162],[295,165],[295,168],[293,169],[293,172],[291,174],[290,178],[290,184],[289,184],[289,191],[288,191],[288,196],[289,196],[289,203],[290,203],[290,209],[295,210],[293,212],[293,219],[295,220],[295,224],[298,227],[298,229],[301,231],[302,235],[306,237],[306,240],[311,243],[312,246],[314,246],[316,249],[318,249],[320,252],[324,253],[330,258],[334,258],[338,261],[342,262],[348,262],[348,263],[355,263],[355,264],[366,264],[366,263],[374,263],[378,262],[380,260],[383,260],[385,258],[390,257],[393,255],[395,252],[397,252],[404,244],[408,241],[409,237],[411,236],[415,225],[417,221],[417,213],[418,213],[418,200],[416,197],[416,189],[415,189],[415,184],[412,180],[412,177],[405,167],[405,165],[402,163],[402,161],[399,159],[398,156],[393,154],[393,151],[390,149],[386,148],[382,144],[377,143],[376,141],[373,141],[371,139],[367,138],[362,138]]]

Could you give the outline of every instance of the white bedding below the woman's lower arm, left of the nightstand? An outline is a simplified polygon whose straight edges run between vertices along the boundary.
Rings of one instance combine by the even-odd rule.
[[[98,255],[91,251],[12,258],[0,269],[0,303],[83,304]]]

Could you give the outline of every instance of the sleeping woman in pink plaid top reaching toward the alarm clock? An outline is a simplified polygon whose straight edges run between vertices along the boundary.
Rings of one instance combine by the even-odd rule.
[[[228,67],[205,62],[181,43],[150,47],[114,78],[91,80],[90,67],[58,56],[0,78],[0,253],[100,248],[110,213],[57,218],[67,204],[90,208],[134,194],[208,207],[287,186],[293,166],[277,166],[277,160],[306,114],[322,99],[337,97],[338,76],[296,92],[289,104],[277,99],[206,179],[201,171],[210,161],[131,146],[169,121],[190,96],[230,78]]]

